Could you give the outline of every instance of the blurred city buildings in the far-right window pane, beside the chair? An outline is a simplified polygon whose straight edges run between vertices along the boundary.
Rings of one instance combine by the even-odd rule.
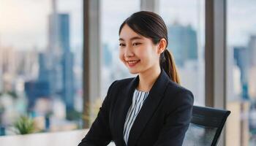
[[[255,34],[246,46],[227,47],[227,109],[232,111],[227,120],[229,145],[256,144],[255,56]]]

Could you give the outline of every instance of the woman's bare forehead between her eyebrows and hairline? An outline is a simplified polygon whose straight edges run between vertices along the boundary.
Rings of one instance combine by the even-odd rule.
[[[140,34],[137,34],[135,31],[132,30],[132,28],[130,28],[127,24],[125,24],[124,27],[121,28],[119,40],[128,41],[132,39],[146,39],[146,37],[143,37]]]

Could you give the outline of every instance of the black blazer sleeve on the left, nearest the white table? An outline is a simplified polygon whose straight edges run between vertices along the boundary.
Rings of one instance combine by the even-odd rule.
[[[116,81],[115,81],[116,82]],[[99,108],[97,118],[92,123],[86,137],[82,139],[78,146],[103,146],[108,145],[112,140],[110,127],[109,127],[109,106],[110,106],[110,91],[114,83],[108,88],[107,96]]]

